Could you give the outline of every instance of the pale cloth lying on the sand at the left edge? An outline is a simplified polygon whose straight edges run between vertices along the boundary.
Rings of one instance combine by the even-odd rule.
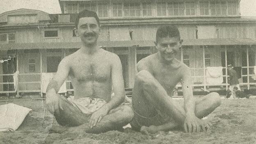
[[[15,131],[32,109],[8,103],[0,106],[0,131]]]

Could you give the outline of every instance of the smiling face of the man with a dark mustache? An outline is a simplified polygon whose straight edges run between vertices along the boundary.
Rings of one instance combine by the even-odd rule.
[[[87,45],[97,42],[100,27],[94,17],[83,17],[79,19],[77,33],[81,41]]]

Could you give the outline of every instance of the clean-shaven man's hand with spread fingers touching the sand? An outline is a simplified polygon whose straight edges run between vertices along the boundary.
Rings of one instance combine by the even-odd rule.
[[[210,127],[213,126],[209,121],[204,121],[196,116],[187,116],[184,122],[184,129],[186,133],[200,132],[203,130],[210,130]]]

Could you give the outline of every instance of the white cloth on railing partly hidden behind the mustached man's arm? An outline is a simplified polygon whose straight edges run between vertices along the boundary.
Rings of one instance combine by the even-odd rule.
[[[42,92],[46,93],[47,86],[49,82],[53,79],[53,76],[55,75],[54,72],[43,72],[42,73]],[[66,89],[66,81],[64,81],[63,85],[59,88],[58,93],[64,93],[67,92]]]

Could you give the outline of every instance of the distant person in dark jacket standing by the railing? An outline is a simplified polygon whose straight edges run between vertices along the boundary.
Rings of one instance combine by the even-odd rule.
[[[233,92],[233,89],[235,86],[238,88],[238,90],[240,90],[238,75],[236,71],[233,70],[233,65],[228,65],[228,74],[229,74],[229,90]]]

